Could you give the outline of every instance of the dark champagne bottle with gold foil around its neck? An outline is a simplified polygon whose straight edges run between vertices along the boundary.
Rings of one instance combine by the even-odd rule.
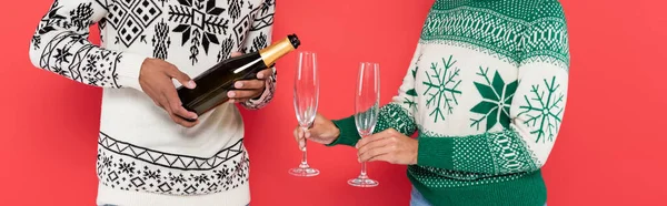
[[[290,34],[260,51],[242,54],[219,62],[195,79],[197,86],[192,90],[185,86],[177,89],[182,106],[201,115],[227,102],[227,92],[233,89],[239,80],[257,79],[257,73],[268,69],[285,54],[301,44],[296,34]],[[195,121],[195,120],[188,120]]]

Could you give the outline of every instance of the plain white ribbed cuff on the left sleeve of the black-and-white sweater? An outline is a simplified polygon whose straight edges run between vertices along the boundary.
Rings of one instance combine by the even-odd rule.
[[[116,72],[118,73],[118,84],[143,92],[143,90],[141,90],[141,84],[139,84],[139,73],[141,72],[141,65],[146,59],[147,56],[143,55],[122,53],[116,68]]]

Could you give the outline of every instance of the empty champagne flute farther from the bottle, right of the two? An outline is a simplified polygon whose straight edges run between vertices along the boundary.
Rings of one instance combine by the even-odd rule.
[[[361,137],[372,134],[380,112],[380,65],[362,62],[359,66],[357,91],[355,92],[355,122]],[[361,173],[357,178],[348,181],[356,187],[375,187],[378,182],[368,177],[366,163],[361,163]]]

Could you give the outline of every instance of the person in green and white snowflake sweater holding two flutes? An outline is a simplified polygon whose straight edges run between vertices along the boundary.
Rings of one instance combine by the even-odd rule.
[[[411,205],[541,206],[568,70],[557,0],[437,0],[372,135],[360,138],[354,116],[318,115],[295,136],[408,165]]]

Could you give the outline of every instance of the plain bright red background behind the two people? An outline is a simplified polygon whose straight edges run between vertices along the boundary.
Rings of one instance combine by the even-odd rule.
[[[278,0],[273,37],[296,32],[319,52],[320,112],[352,112],[357,63],[378,61],[382,103],[396,94],[434,0]],[[32,32],[51,0],[0,7],[0,205],[93,205],[101,90],[34,69]],[[550,206],[664,205],[667,3],[563,0],[571,70],[563,132],[545,167]],[[97,32],[93,32],[93,37]],[[94,37],[97,41],[97,37]],[[377,188],[352,188],[355,151],[310,144],[315,178],[287,174],[299,161],[291,136],[295,56],[281,60],[277,96],[243,111],[252,205],[408,205],[405,166],[369,165]],[[337,92],[342,92],[338,95]]]

